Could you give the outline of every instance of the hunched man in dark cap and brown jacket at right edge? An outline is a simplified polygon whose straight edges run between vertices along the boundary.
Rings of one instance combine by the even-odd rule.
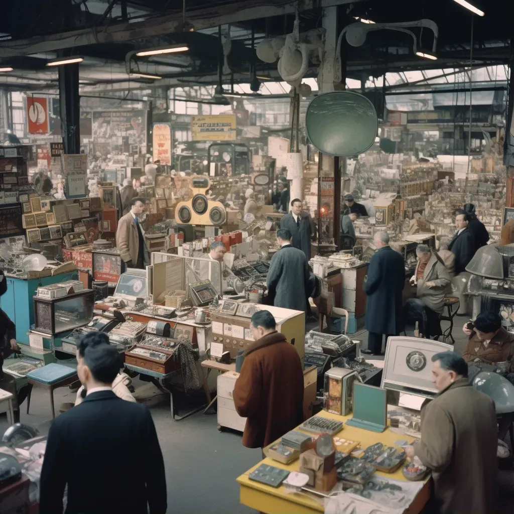
[[[479,360],[486,364],[505,363],[505,371],[514,372],[514,334],[502,326],[498,313],[485,311],[480,313],[474,323],[463,327],[468,342],[462,352],[466,362]]]

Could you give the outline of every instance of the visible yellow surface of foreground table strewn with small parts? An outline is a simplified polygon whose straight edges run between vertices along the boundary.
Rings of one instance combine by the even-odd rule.
[[[349,416],[338,416],[326,411],[321,411],[319,416],[327,418],[338,419],[346,423],[353,414]],[[350,427],[343,425],[343,429],[336,434],[338,437],[344,437],[353,441],[360,441],[360,448],[366,449],[374,443],[383,443],[385,445],[394,446],[394,442],[398,439],[407,439],[409,442],[414,440],[414,437],[407,435],[395,434],[389,428],[382,433],[371,432],[361,428]],[[261,464],[268,464],[278,468],[287,469],[289,471],[298,471],[300,467],[300,460],[296,460],[289,465],[273,461],[271,458],[265,458],[264,461],[259,462],[246,473],[238,476],[237,482],[240,484],[240,498],[243,505],[247,505],[252,509],[266,512],[267,514],[315,514],[316,512],[324,512],[323,500],[324,498],[313,494],[304,492],[286,492],[284,486],[271,487],[260,482],[254,482],[248,478],[248,475]],[[394,473],[383,473],[376,471],[378,475],[386,476],[395,480],[406,480],[401,473],[401,467]],[[425,479],[423,489],[421,489],[414,502],[411,504],[407,512],[409,514],[418,514],[424,505],[427,503],[430,495],[430,480]]]

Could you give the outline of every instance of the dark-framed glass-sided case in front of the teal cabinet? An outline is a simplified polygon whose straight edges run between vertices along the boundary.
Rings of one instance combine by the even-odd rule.
[[[84,289],[62,298],[33,297],[35,330],[59,334],[86,325],[93,318],[95,291]]]

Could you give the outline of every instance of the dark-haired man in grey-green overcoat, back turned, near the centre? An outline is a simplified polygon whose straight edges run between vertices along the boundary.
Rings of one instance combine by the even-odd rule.
[[[280,250],[273,255],[266,284],[273,305],[285,309],[307,309],[309,266],[302,250],[291,245],[291,232],[277,230]]]

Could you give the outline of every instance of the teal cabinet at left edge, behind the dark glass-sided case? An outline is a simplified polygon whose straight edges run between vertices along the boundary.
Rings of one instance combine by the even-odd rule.
[[[61,273],[53,277],[24,280],[6,277],[7,292],[0,298],[0,308],[16,325],[16,340],[29,344],[28,331],[34,324],[34,300],[38,287],[57,284],[76,278],[77,273]]]

